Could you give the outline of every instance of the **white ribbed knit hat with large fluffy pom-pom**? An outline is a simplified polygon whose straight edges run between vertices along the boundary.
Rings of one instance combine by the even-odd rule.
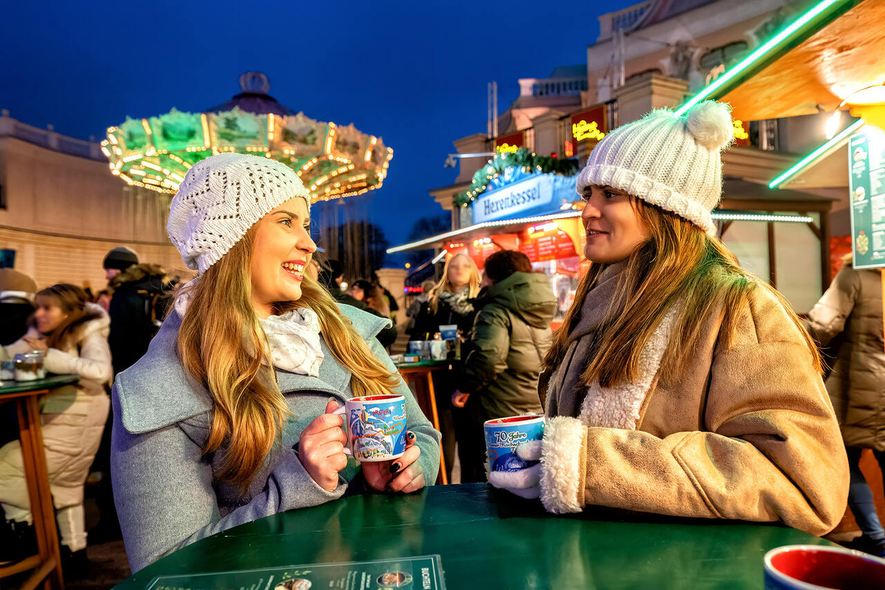
[[[680,117],[661,109],[614,129],[590,152],[578,192],[592,184],[623,190],[715,236],[710,212],[722,196],[720,151],[735,136],[730,113],[707,100]]]

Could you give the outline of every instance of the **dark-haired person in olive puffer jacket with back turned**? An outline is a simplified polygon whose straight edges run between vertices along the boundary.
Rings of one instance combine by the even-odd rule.
[[[538,377],[557,309],[550,281],[532,272],[524,253],[495,252],[485,267],[491,285],[477,301],[470,352],[451,399],[456,408],[467,408],[458,433],[462,483],[485,480],[483,422],[543,412]]]

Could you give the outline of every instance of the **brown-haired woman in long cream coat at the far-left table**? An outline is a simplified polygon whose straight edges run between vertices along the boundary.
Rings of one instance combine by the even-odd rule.
[[[108,347],[111,319],[104,309],[89,303],[86,291],[73,284],[60,283],[38,291],[35,304],[27,334],[5,349],[10,356],[42,351],[46,354],[44,369],[80,377],[78,384],[42,396],[39,405],[62,557],[67,569],[81,569],[87,563],[83,485],[110,406],[104,385],[113,379]],[[30,538],[33,543],[31,503],[18,440],[0,448],[0,506],[5,518],[12,521],[16,538]],[[35,549],[24,544],[11,548],[26,555]]]

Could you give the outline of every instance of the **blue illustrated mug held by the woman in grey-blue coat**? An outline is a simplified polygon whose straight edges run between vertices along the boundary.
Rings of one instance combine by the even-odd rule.
[[[398,459],[405,453],[405,398],[368,395],[346,400],[335,414],[344,415],[345,454],[361,462]]]

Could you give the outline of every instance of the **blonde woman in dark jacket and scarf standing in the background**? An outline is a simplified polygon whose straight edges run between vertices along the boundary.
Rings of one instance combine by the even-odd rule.
[[[458,337],[462,342],[473,328],[476,312],[473,301],[480,292],[480,270],[476,263],[465,254],[456,254],[446,260],[443,277],[430,291],[427,302],[415,317],[415,324],[409,332],[410,340],[432,340],[440,326],[457,325]],[[453,415],[451,394],[456,389],[455,371],[433,371],[436,411],[439,417],[439,429],[443,433],[443,456],[448,477],[455,458],[456,428],[462,431],[460,424],[464,416]],[[463,414],[463,412],[461,412]]]

